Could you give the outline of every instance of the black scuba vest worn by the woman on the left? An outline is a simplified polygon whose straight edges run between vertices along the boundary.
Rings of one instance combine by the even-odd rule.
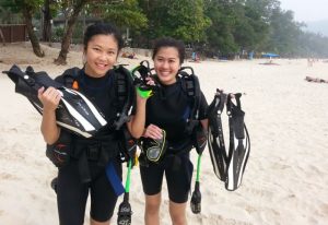
[[[80,72],[81,69],[79,68],[71,68],[65,71],[62,74],[63,85],[79,91]],[[109,125],[109,129],[120,132],[119,161],[128,162],[129,158],[134,157],[137,151],[136,140],[126,127],[134,99],[134,92],[131,92],[133,90],[133,81],[130,72],[121,66],[114,68],[110,75],[115,75],[114,86],[117,114],[116,119]],[[46,155],[57,167],[65,166],[72,154],[72,150],[69,147],[71,138],[71,133],[61,130],[59,140],[52,145],[47,145]]]

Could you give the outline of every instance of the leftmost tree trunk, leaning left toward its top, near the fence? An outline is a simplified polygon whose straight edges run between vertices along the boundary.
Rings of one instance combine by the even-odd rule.
[[[31,10],[27,9],[26,5],[23,8],[23,15],[24,15],[24,19],[25,19],[27,34],[28,34],[30,42],[31,42],[32,47],[33,47],[33,51],[37,57],[44,57],[45,52],[42,50],[42,48],[39,46],[39,42],[38,42],[35,33],[34,33],[34,29],[33,29]]]

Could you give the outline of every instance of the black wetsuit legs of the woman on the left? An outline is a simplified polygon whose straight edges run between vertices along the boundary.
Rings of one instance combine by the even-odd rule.
[[[121,179],[121,164],[113,162],[117,175]],[[108,221],[114,213],[117,201],[105,168],[90,162],[91,182],[82,183],[78,169],[78,162],[72,161],[59,169],[57,186],[57,202],[60,225],[82,225],[86,200],[90,191],[90,216],[97,222]]]

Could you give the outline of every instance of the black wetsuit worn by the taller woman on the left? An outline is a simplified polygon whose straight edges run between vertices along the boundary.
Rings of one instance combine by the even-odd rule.
[[[65,84],[62,75],[58,76],[56,81]],[[95,79],[86,75],[83,70],[80,70],[78,83],[79,92],[83,93],[90,100],[92,100],[93,104],[95,104],[105,115],[105,119],[108,125],[112,125],[117,110],[114,75],[110,74],[110,71],[107,72],[105,76]],[[59,169],[57,201],[59,221],[61,225],[83,224],[89,192],[91,196],[91,217],[98,222],[105,222],[113,216],[117,196],[115,194],[106,176],[105,164],[112,162],[118,177],[121,180],[122,171],[121,164],[117,159],[118,137],[116,135],[117,133],[110,129],[109,126],[104,127],[95,137],[87,140],[78,135],[72,135],[71,147],[73,152],[78,145],[81,149],[86,146],[90,142],[103,143],[103,140],[107,140],[107,137],[109,137],[109,144],[106,143],[107,145],[105,145],[105,150],[102,150],[107,152],[107,156],[109,155],[109,157],[105,159],[97,158],[101,157],[99,153],[96,154],[96,157],[87,157],[87,163],[82,167],[84,167],[83,169],[87,169],[90,173],[90,176],[86,177],[89,181],[81,180],[81,165],[79,165],[79,162],[82,153],[74,155],[67,166]],[[84,150],[82,151],[84,152]],[[102,163],[99,163],[99,161],[102,161]]]

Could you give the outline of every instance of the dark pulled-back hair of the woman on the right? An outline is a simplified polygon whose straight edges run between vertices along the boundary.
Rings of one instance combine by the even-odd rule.
[[[162,37],[156,39],[153,48],[152,59],[154,60],[159,50],[163,47],[174,47],[178,50],[180,64],[185,60],[185,44],[181,40],[174,39],[172,37]]]

